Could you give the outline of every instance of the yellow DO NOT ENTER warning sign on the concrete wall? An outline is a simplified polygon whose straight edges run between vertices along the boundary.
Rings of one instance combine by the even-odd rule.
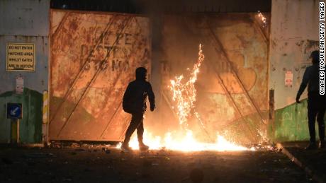
[[[35,44],[7,43],[7,71],[35,71]]]

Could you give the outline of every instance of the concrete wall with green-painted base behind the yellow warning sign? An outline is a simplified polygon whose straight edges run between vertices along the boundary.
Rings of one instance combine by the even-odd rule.
[[[50,0],[0,1],[0,142],[10,139],[6,103],[23,103],[21,142],[42,139],[43,90],[48,90],[48,42]],[[6,71],[6,43],[34,43],[35,71]],[[23,76],[22,95],[15,92],[16,76]]]

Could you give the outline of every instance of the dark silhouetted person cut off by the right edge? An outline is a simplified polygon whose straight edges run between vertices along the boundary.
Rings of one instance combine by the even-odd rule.
[[[325,148],[324,115],[326,110],[326,95],[319,94],[319,52],[313,51],[310,58],[313,58],[313,65],[308,66],[307,69],[305,69],[298,94],[296,95],[296,102],[300,103],[300,95],[308,85],[308,126],[310,134],[310,143],[306,148],[308,150],[317,148],[315,131],[316,116],[320,138],[320,148]]]

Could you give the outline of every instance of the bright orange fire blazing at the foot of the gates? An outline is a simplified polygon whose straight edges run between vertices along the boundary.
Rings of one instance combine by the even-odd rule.
[[[164,138],[161,136],[152,136],[150,132],[145,130],[144,133],[144,143],[150,146],[150,149],[169,149],[169,150],[181,150],[181,151],[201,151],[201,150],[254,150],[254,148],[245,148],[242,146],[237,146],[235,143],[231,143],[223,136],[218,135],[215,143],[202,143],[193,137],[193,131],[187,129],[187,121],[192,116],[196,117],[200,122],[202,129],[208,135],[203,122],[195,111],[196,102],[196,88],[194,83],[197,80],[197,75],[199,73],[199,68],[204,60],[203,50],[201,45],[199,45],[198,60],[193,66],[193,71],[190,73],[190,78],[188,81],[184,81],[184,76],[176,76],[174,80],[171,81],[169,86],[172,91],[172,99],[176,102],[177,115],[179,118],[179,124],[181,125],[181,130],[167,132]],[[188,69],[189,70],[189,69]],[[138,149],[138,141],[136,133],[131,137],[129,146],[133,149]],[[120,144],[118,145],[120,148]]]

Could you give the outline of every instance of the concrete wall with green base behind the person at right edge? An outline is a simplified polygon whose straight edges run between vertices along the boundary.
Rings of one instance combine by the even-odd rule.
[[[276,141],[308,140],[307,92],[296,104],[296,93],[310,53],[319,49],[319,1],[273,0],[269,52],[269,89],[275,93],[275,115],[270,129]],[[286,87],[285,73],[293,73],[293,85]]]

